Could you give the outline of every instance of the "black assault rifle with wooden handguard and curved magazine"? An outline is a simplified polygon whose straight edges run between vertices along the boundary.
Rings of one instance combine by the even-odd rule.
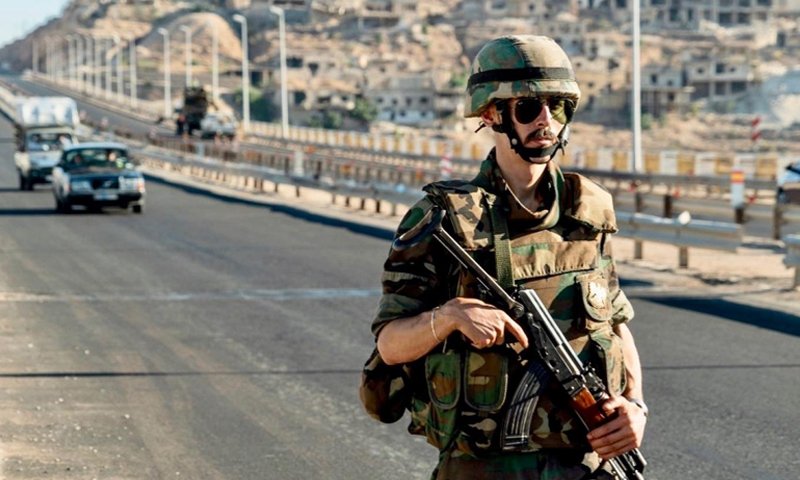
[[[600,407],[609,398],[605,385],[594,370],[584,365],[572,350],[536,292],[531,289],[516,288],[511,294],[507,293],[497,280],[478,265],[442,228],[444,216],[445,212],[440,208],[430,210],[414,228],[398,237],[392,248],[398,251],[413,248],[433,236],[478,280],[495,306],[504,310],[526,329],[536,356],[532,360],[538,361],[528,362],[529,367],[511,398],[503,426],[502,448],[510,451],[527,445],[535,406],[528,400],[536,396],[545,376],[555,378],[569,397],[576,416],[587,431],[610,420]],[[608,460],[608,464],[619,479],[644,480],[642,472],[647,462],[639,449],[614,457]]]

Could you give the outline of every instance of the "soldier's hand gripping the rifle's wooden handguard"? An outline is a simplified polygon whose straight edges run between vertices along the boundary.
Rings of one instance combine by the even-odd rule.
[[[600,458],[608,460],[639,448],[647,423],[644,411],[621,396],[611,397],[603,402],[602,407],[611,420],[589,432],[586,437]]]

